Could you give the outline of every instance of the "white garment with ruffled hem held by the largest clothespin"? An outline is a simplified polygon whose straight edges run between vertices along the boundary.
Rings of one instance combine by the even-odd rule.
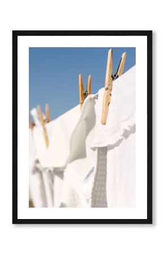
[[[98,91],[96,104],[96,132],[92,143],[94,147],[114,144],[124,138],[125,130],[136,124],[136,67],[132,67],[113,82],[111,103],[106,125],[101,124],[104,88]]]

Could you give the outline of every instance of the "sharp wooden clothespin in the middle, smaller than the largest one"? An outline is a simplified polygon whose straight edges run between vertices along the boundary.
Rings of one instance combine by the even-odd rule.
[[[85,98],[90,94],[91,76],[88,76],[87,90],[84,91],[83,80],[81,74],[79,75],[79,96],[80,96],[80,110],[83,106]]]

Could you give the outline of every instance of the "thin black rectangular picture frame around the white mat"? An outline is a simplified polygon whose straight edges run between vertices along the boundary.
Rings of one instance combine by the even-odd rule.
[[[12,31],[12,224],[152,224],[152,31]],[[147,218],[18,219],[18,36],[147,36]]]

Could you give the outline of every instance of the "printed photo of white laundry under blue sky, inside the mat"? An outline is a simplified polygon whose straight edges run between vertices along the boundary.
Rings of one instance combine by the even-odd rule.
[[[135,207],[135,56],[29,48],[29,205]]]

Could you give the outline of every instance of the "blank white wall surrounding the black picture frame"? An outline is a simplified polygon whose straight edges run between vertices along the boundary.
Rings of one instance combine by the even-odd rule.
[[[65,255],[66,253],[68,255],[162,255],[164,228],[162,1],[70,0],[60,1],[57,4],[55,1],[15,0],[1,2],[0,10],[1,255]],[[11,224],[12,30],[154,30],[153,225]]]

